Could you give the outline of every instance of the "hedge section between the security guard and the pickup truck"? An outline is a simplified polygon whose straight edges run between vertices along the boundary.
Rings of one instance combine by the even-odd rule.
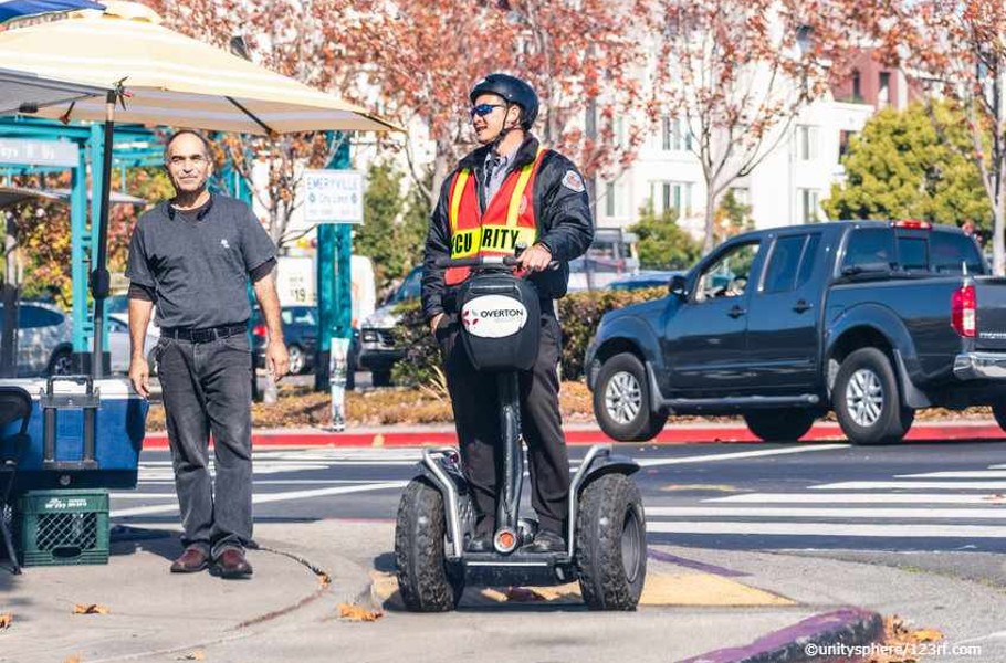
[[[646,287],[635,291],[593,291],[566,295],[559,299],[559,320],[563,326],[563,379],[584,378],[584,355],[600,318],[609,311],[630,304],[660,299],[667,296],[666,287]]]

